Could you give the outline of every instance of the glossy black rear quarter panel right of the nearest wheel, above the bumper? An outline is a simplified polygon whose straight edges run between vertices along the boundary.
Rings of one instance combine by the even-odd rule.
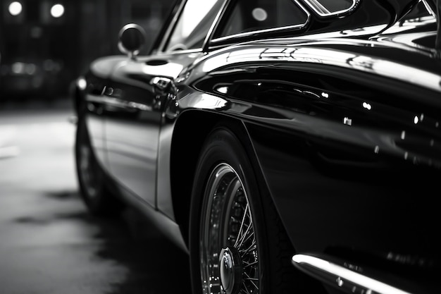
[[[383,71],[381,51],[295,51],[224,52],[194,85],[244,121],[297,252],[362,261],[409,278],[409,290],[439,287],[428,273],[439,273],[441,245],[440,75],[401,61]]]

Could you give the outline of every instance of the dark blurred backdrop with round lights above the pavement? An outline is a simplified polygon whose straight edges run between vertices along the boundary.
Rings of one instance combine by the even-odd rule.
[[[99,56],[120,54],[118,32],[138,23],[148,51],[173,0],[1,0],[0,102],[59,99]]]

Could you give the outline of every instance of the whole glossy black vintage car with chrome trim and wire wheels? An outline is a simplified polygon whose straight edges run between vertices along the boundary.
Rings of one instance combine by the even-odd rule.
[[[435,0],[178,1],[77,79],[92,214],[137,207],[193,293],[441,293]]]

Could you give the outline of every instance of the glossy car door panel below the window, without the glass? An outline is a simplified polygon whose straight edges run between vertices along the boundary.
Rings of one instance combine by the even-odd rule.
[[[110,172],[155,208],[156,197],[167,197],[157,195],[156,176],[164,104],[173,78],[191,60],[180,59],[180,54],[128,60],[113,71],[108,82],[111,90],[104,93]],[[168,213],[173,217],[172,210]]]

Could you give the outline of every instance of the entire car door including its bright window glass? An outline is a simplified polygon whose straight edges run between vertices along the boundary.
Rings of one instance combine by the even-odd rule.
[[[205,36],[223,2],[198,6],[197,1],[187,1],[177,13],[179,18],[170,23],[174,30],[163,37],[163,49],[120,63],[104,90],[111,175],[153,207],[157,206],[158,146],[168,93],[182,69],[203,54]],[[200,12],[197,18],[191,16],[195,9]]]

